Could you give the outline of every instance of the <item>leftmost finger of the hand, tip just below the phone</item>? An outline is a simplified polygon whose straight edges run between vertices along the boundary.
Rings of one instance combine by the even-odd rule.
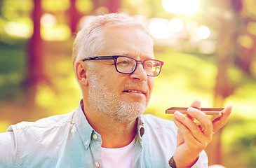
[[[184,127],[187,128],[187,130],[183,129],[184,132],[180,130],[183,134],[185,141],[186,141],[187,134],[191,134],[194,137],[194,139],[196,139],[199,142],[203,141],[205,136],[203,135],[203,132],[201,132],[201,130],[199,129],[198,125],[196,125],[196,123],[194,123],[192,120],[184,116],[184,114],[180,113],[179,111],[176,111],[174,115],[175,115],[174,119],[178,120],[182,125],[184,125]],[[189,136],[187,137],[187,139],[188,138],[191,138],[191,137]]]

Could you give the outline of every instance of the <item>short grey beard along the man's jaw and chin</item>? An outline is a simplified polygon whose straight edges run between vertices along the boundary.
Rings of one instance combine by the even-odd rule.
[[[144,113],[147,104],[140,102],[125,102],[118,95],[109,91],[101,80],[90,73],[88,101],[93,110],[101,116],[107,116],[114,121],[131,122]]]

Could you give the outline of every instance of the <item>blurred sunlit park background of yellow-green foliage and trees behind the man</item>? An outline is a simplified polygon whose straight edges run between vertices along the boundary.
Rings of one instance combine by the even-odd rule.
[[[147,27],[161,76],[146,113],[233,104],[208,146],[210,165],[256,167],[255,0],[0,1],[0,132],[68,113],[81,99],[72,71],[76,32],[95,15],[125,13]]]

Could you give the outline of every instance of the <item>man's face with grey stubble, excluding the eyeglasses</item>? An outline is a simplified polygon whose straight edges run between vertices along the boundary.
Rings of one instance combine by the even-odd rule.
[[[135,27],[104,29],[105,49],[101,56],[125,55],[137,60],[154,59],[149,36]],[[96,55],[93,55],[96,56]],[[88,76],[88,99],[95,111],[114,120],[134,120],[140,116],[151,96],[153,77],[148,77],[142,64],[131,74],[118,73],[114,60],[93,61]]]

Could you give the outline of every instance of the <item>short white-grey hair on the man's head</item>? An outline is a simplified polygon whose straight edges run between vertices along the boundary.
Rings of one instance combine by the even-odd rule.
[[[117,13],[99,15],[88,26],[83,27],[76,35],[73,46],[73,67],[77,61],[86,57],[97,56],[104,49],[104,43],[106,41],[104,41],[102,29],[106,26],[136,27],[149,35],[147,29],[133,17]]]

